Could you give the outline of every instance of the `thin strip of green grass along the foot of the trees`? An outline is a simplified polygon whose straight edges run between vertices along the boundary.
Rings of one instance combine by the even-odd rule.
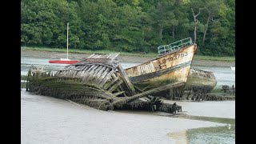
[[[66,52],[66,49],[59,48],[46,48],[46,47],[22,47],[21,50],[37,50],[37,51],[50,51],[50,52]],[[119,52],[119,51],[111,51],[111,50],[78,50],[78,49],[70,49],[69,53],[73,54],[110,54],[110,53],[120,53],[123,56],[139,56],[139,57],[150,57],[155,58],[158,54],[156,53],[148,53],[148,54],[134,54],[127,52]],[[226,62],[234,62],[234,57],[214,57],[214,56],[202,56],[202,55],[194,55],[195,60],[212,60],[212,61],[226,61]]]

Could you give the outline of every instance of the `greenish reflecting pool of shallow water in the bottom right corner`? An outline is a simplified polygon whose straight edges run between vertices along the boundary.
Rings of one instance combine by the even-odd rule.
[[[185,115],[179,118],[189,118],[202,121],[226,123],[226,126],[204,127],[167,134],[177,143],[235,143],[235,120],[233,118],[214,118]],[[186,140],[186,142],[184,142]]]

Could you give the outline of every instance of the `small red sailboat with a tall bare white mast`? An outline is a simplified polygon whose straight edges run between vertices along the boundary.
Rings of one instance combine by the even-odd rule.
[[[50,58],[52,60],[49,61],[49,63],[58,63],[58,64],[74,64],[79,62],[78,60],[70,60],[69,59],[69,23],[67,23],[66,26],[66,54],[55,54],[55,55],[66,55],[66,58],[58,58],[53,57]]]

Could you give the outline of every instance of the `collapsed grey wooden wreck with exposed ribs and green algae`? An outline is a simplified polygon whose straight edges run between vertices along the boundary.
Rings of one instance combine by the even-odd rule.
[[[150,94],[182,86],[184,82],[170,82],[150,90],[138,90],[130,82],[117,57],[118,54],[92,54],[81,62],[65,66],[63,70],[43,70],[31,66],[26,90],[99,110],[127,108],[169,113],[182,110],[181,106],[163,103],[160,98]]]

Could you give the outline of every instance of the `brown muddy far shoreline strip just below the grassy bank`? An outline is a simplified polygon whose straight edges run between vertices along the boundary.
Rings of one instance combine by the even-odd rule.
[[[37,50],[21,50],[21,57],[34,57],[34,58],[49,58],[53,57],[54,54],[66,54],[63,52],[51,52],[51,51],[37,51]],[[90,54],[74,54],[71,53],[70,56],[77,56],[77,59],[82,59],[88,57]],[[157,56],[157,55],[156,55]],[[142,56],[128,56],[119,54],[118,61],[119,62],[148,62],[151,57],[142,55]],[[192,66],[221,66],[221,67],[230,67],[235,66],[235,62],[227,62],[227,61],[213,61],[213,60],[198,60],[194,59],[192,62]]]

